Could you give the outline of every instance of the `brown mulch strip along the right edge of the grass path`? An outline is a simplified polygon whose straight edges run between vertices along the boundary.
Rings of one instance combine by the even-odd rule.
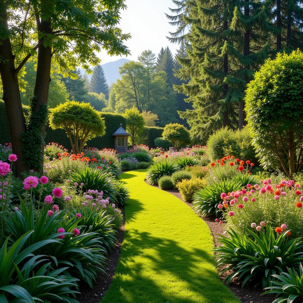
[[[193,208],[191,203],[186,202],[182,199],[182,196],[178,190],[172,189],[172,190],[167,190],[167,192],[182,200],[189,207]],[[216,235],[217,234],[222,235],[224,233],[225,231],[224,225],[219,225],[218,222],[215,222],[214,218],[201,217],[201,219],[205,221],[205,223],[208,225],[209,229],[211,230],[211,234],[213,235],[214,238],[215,247],[219,246],[219,243],[216,241]],[[227,274],[230,274],[230,272],[226,272],[223,275],[221,275],[220,276],[221,280],[223,280]],[[261,288],[260,285],[245,286],[244,288],[241,289],[241,283],[237,282],[237,280],[234,280],[228,285],[228,288],[243,303],[271,303],[275,299],[275,296],[272,295],[271,296],[263,295],[260,297],[260,295],[263,293],[263,289]]]

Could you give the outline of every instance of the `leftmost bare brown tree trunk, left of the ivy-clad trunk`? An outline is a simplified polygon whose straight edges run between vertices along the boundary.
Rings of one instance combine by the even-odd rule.
[[[8,28],[7,15],[0,14],[1,23]],[[18,75],[15,73],[15,57],[12,54],[10,39],[0,40],[0,74],[3,86],[3,101],[8,119],[11,135],[12,151],[17,155],[15,163],[16,175],[21,177],[21,172],[27,169],[23,163],[20,136],[26,132],[25,118],[22,111],[19,91]],[[5,62],[5,63],[4,63]]]

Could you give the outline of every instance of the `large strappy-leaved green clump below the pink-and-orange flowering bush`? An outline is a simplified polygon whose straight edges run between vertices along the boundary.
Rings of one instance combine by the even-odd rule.
[[[287,233],[276,237],[270,225],[266,231],[257,232],[248,230],[252,239],[231,230],[227,231],[229,237],[220,235],[219,243],[223,244],[214,249],[217,267],[224,265],[221,274],[232,270],[224,279],[227,283],[235,277],[243,281],[262,281],[262,287],[270,285],[275,275],[285,271],[287,267],[298,267],[303,252],[303,242],[299,239],[287,240]],[[227,267],[225,267],[227,265]],[[274,275],[274,276],[273,276]]]

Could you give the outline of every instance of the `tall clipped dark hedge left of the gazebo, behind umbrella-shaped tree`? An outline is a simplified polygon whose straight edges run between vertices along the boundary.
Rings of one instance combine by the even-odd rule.
[[[24,106],[24,112],[27,112],[28,106]],[[87,146],[102,148],[114,148],[114,138],[112,133],[115,132],[122,123],[123,128],[126,129],[127,120],[120,114],[114,113],[103,113],[102,117],[105,121],[105,135],[102,137],[97,137],[87,142]],[[3,101],[0,101],[0,121],[1,121],[1,132],[0,132],[0,144],[10,142],[11,137],[9,134],[7,116],[5,105]],[[71,144],[68,140],[67,135],[63,129],[52,130],[48,125],[45,128],[45,144],[48,143],[58,143],[63,145],[68,150],[71,149]]]

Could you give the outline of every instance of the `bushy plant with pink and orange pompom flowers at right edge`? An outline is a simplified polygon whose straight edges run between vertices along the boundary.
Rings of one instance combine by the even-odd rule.
[[[288,228],[291,237],[298,237],[303,232],[302,201],[300,185],[294,181],[281,180],[272,184],[271,179],[266,179],[229,194],[222,191],[221,203],[217,207],[225,210],[223,217],[228,227],[237,232],[243,231],[244,227],[269,224],[277,227],[278,233]]]

